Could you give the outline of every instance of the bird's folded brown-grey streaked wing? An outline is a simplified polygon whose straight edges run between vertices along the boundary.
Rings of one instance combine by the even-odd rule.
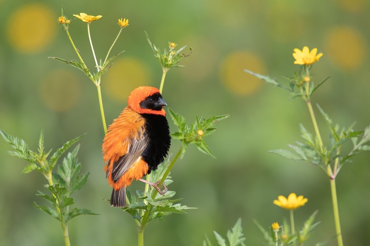
[[[137,138],[131,139],[127,153],[121,156],[112,167],[112,180],[117,181],[121,176],[129,170],[132,165],[138,160],[142,152],[149,143],[149,137],[143,133]]]

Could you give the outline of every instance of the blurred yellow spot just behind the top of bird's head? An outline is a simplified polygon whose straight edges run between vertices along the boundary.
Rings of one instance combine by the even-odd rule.
[[[110,98],[119,102],[127,101],[127,96],[136,87],[149,85],[149,68],[133,57],[116,59],[106,74],[102,86]]]

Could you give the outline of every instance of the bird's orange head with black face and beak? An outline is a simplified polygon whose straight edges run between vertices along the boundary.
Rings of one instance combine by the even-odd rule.
[[[133,90],[128,97],[128,106],[138,113],[166,115],[162,108],[167,106],[161,93],[155,87],[140,86]]]

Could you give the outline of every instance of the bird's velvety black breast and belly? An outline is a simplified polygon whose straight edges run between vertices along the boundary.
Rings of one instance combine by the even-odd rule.
[[[142,153],[143,160],[149,166],[148,174],[157,169],[164,160],[171,146],[168,121],[165,116],[157,114],[141,114],[145,118],[145,134],[149,144]]]

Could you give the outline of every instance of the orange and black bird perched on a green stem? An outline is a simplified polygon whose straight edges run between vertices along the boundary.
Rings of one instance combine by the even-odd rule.
[[[113,187],[110,206],[126,207],[126,188],[133,180],[152,185],[160,194],[167,191],[142,179],[158,168],[167,156],[171,136],[166,112],[167,106],[155,87],[134,89],[121,114],[108,127],[102,144],[104,167],[109,186]]]

